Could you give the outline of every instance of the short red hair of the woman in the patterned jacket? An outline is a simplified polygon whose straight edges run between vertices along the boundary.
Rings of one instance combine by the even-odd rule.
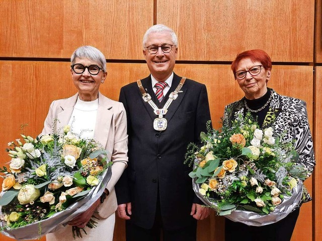
[[[261,64],[266,70],[272,69],[272,60],[264,50],[261,50],[261,49],[247,50],[247,51],[241,52],[240,54],[237,54],[237,57],[231,63],[231,70],[235,78],[236,78],[237,65],[239,64],[240,60],[247,59],[247,58],[251,59],[254,62],[255,61],[261,62]]]

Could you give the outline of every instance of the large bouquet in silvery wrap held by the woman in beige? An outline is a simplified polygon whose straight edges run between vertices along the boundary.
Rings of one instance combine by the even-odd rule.
[[[21,135],[24,144],[20,139],[8,143],[10,168],[0,168],[5,178],[0,193],[5,235],[39,238],[84,212],[104,191],[111,176],[106,151],[69,131],[65,126],[62,133],[35,139]],[[92,218],[88,226],[96,223]],[[82,235],[74,226],[73,232]]]

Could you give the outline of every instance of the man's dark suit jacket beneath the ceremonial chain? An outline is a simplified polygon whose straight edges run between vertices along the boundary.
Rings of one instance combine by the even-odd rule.
[[[181,77],[174,74],[172,86],[161,103],[153,92],[151,77],[142,85],[158,107],[163,107],[169,94],[176,89]],[[136,82],[121,88],[119,101],[124,104],[128,121],[128,168],[116,185],[118,204],[131,202],[131,222],[151,228],[157,197],[164,227],[178,229],[190,225],[192,203],[201,203],[192,189],[188,176],[191,168],[184,164],[187,145],[200,142],[200,132],[206,131],[210,111],[206,86],[187,79],[182,92],[172,102],[164,117],[165,131],[155,131],[157,116],[144,102]]]

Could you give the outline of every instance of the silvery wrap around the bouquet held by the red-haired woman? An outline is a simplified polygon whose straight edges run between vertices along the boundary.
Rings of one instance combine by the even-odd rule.
[[[218,204],[215,199],[211,199],[200,194],[200,186],[201,184],[196,183],[197,178],[193,179],[193,189],[196,195],[199,197],[203,203],[215,211],[218,211]],[[241,208],[237,208],[232,211],[229,215],[224,215],[224,217],[230,219],[234,222],[241,222],[247,224],[249,226],[263,226],[278,222],[279,220],[286,217],[294,208],[298,207],[301,203],[302,199],[302,190],[303,183],[300,180],[295,188],[292,189],[292,196],[284,195],[284,199],[281,204],[275,206],[274,211],[269,214],[259,214],[256,212],[242,210]]]

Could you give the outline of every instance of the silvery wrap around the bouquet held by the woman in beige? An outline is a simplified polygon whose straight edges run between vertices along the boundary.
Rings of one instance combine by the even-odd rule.
[[[56,212],[47,219],[40,220],[23,227],[5,229],[2,233],[18,240],[39,239],[41,236],[49,232],[54,232],[55,230],[62,228],[77,215],[85,212],[102,195],[107,183],[111,179],[111,169],[111,167],[108,167],[105,171],[101,183],[93,188],[84,198],[73,203],[65,210]],[[5,225],[6,222],[1,223],[2,227]]]

